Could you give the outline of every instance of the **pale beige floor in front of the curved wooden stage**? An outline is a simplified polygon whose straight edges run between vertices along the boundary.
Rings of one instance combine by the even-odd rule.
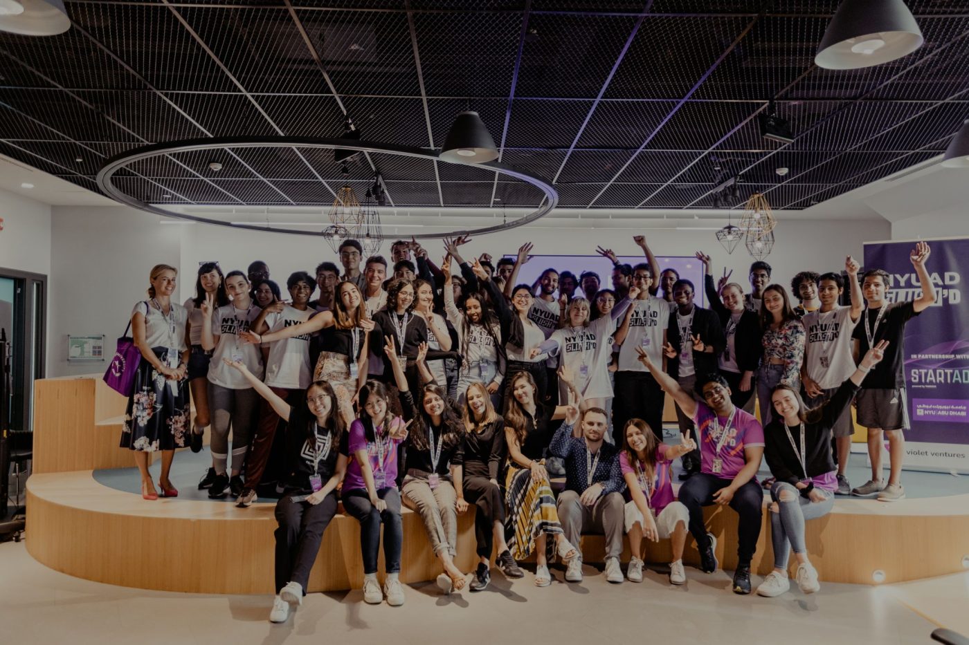
[[[29,539],[29,535],[27,537]],[[213,548],[216,548],[213,545]],[[173,562],[172,567],[179,563]],[[147,592],[80,580],[46,568],[24,543],[0,544],[0,642],[138,643],[912,643],[936,627],[969,632],[969,573],[886,587],[825,584],[804,597],[739,597],[729,575],[687,569],[671,587],[650,571],[641,584],[610,585],[586,566],[585,581],[535,588],[496,573],[483,593],[442,597],[406,587],[402,607],[371,606],[359,591],[312,594],[282,625],[266,621],[268,596]],[[755,585],[760,578],[755,578]]]

